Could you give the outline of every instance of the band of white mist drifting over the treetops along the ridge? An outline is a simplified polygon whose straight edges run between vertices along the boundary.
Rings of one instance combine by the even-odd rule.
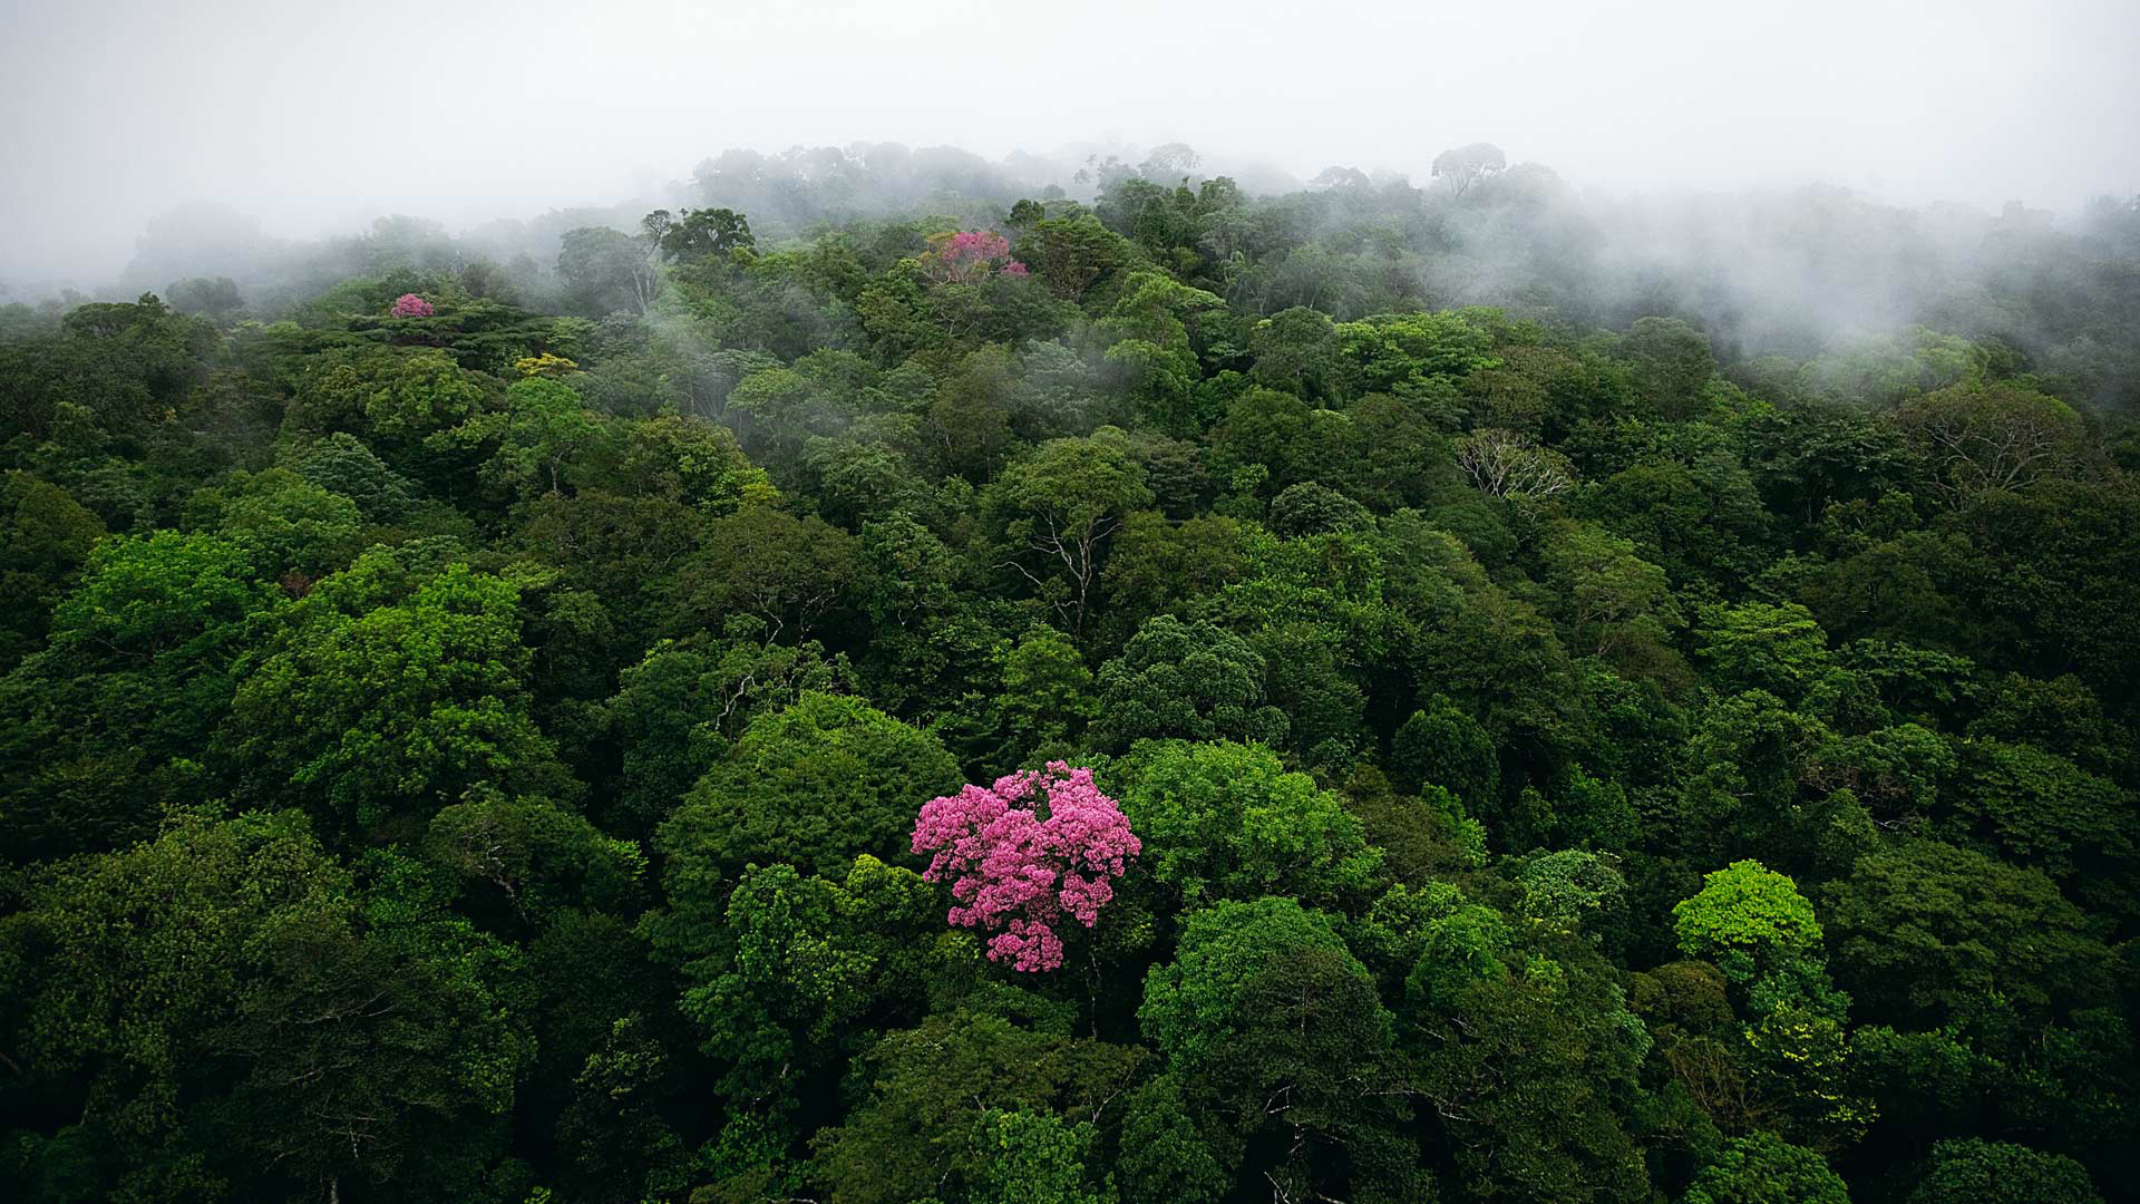
[[[651,306],[644,255],[616,238],[642,236],[648,210],[725,208],[773,242],[839,229],[892,240],[892,251],[914,240],[901,227],[916,214],[987,227],[1034,199],[1079,201],[1147,253],[1164,246],[1190,283],[1263,315],[1295,304],[1338,319],[1487,304],[1616,330],[1678,317],[1744,362],[1907,356],[1898,341],[1926,328],[2009,345],[2091,401],[2129,405],[2140,388],[2140,364],[2121,349],[2140,319],[2140,201],[2129,197],[2076,214],[2018,201],[1992,214],[1898,208],[1836,186],[1584,193],[1549,167],[1507,165],[1492,144],[1442,152],[1417,184],[1350,167],[1308,184],[1252,169],[1243,184],[1201,174],[1201,156],[1181,144],[1132,159],[989,161],[899,144],[728,150],[670,184],[666,206],[554,210],[458,236],[392,216],[315,244],[268,238],[233,210],[197,204],[150,223],[98,300],[156,291],[184,313],[274,319],[336,281],[404,268],[469,274],[482,291],[599,317]],[[43,311],[56,304],[43,300]],[[9,321],[32,321],[36,306],[17,306]]]

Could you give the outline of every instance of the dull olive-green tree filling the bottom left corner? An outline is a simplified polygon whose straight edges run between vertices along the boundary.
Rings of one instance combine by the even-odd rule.
[[[28,1135],[32,1161],[51,1159],[45,1174],[77,1178],[58,1198],[156,1180],[225,1189],[184,1140],[182,1101],[259,945],[347,923],[347,891],[349,874],[291,814],[184,816],[126,853],[26,881],[21,908],[0,919],[4,1048],[28,1095],[88,1103]]]

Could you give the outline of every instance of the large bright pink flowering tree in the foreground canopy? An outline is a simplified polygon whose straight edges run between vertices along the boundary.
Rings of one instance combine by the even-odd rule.
[[[1091,928],[1138,851],[1091,769],[1061,761],[929,799],[914,823],[914,853],[929,855],[922,876],[950,883],[950,923],[991,932],[989,960],[1025,973],[1064,964],[1055,925],[1070,917]]]

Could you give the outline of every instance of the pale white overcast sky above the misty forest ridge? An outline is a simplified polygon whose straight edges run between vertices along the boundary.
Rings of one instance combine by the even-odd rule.
[[[2072,210],[2140,193],[2136,58],[2136,0],[0,0],[0,276],[109,279],[188,199],[460,227],[850,141]]]

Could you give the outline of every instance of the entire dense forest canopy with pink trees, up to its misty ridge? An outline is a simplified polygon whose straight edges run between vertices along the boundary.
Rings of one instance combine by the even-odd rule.
[[[2136,1198],[2140,210],[1012,167],[0,313],[9,1200]]]

